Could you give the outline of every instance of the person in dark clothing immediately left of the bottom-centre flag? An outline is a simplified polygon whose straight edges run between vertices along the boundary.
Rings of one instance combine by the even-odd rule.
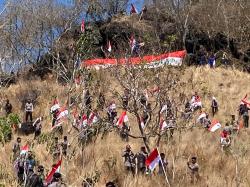
[[[145,174],[146,172],[146,159],[148,157],[148,153],[145,147],[141,147],[141,151],[135,155],[136,163],[137,163],[137,171],[138,173]]]

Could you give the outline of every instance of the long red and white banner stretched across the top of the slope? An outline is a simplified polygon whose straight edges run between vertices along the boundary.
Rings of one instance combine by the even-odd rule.
[[[149,55],[144,57],[122,59],[91,59],[85,60],[83,66],[90,68],[107,68],[114,65],[143,65],[144,68],[157,68],[165,65],[180,66],[186,55],[186,51],[175,51],[161,55]]]

